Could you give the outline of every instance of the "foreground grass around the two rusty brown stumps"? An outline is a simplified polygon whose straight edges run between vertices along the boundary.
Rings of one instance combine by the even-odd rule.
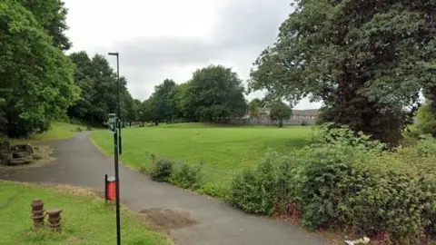
[[[0,244],[116,244],[114,208],[92,191],[9,181],[0,181],[0,190]],[[31,231],[30,203],[34,199],[42,199],[45,210],[63,210],[61,233]],[[123,209],[121,221],[123,244],[172,244],[149,230],[131,211]]]

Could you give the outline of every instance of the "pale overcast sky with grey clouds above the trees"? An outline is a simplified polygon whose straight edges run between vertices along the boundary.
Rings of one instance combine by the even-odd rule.
[[[245,81],[292,12],[291,0],[64,0],[70,52],[120,53],[120,74],[144,100],[165,78],[189,80],[208,64],[233,67]],[[107,56],[115,68],[115,58]],[[252,93],[247,99],[262,97]],[[318,108],[307,99],[295,109]]]

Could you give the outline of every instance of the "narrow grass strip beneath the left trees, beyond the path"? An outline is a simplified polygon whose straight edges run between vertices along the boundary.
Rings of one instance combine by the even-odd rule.
[[[85,127],[82,125],[75,125],[67,122],[52,122],[52,128],[48,132],[43,132],[39,134],[34,134],[29,139],[19,139],[19,140],[10,140],[10,139],[0,139],[0,140],[8,140],[12,143],[16,142],[50,142],[56,140],[64,140],[72,137],[75,133],[77,127],[81,127],[84,129]]]

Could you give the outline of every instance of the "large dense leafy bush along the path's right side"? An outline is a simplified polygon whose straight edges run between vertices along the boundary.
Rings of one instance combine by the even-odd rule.
[[[384,148],[348,128],[324,126],[311,146],[289,157],[270,153],[274,163],[236,177],[228,201],[244,211],[298,216],[311,229],[386,232],[392,242],[420,243],[436,235],[436,140]]]

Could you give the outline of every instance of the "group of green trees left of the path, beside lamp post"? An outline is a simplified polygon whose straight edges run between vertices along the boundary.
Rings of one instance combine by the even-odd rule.
[[[0,3],[0,135],[12,138],[45,132],[65,113],[103,123],[117,108],[114,70],[100,54],[65,55],[72,43],[64,34],[67,10],[61,0]],[[120,78],[125,120],[137,107]]]

